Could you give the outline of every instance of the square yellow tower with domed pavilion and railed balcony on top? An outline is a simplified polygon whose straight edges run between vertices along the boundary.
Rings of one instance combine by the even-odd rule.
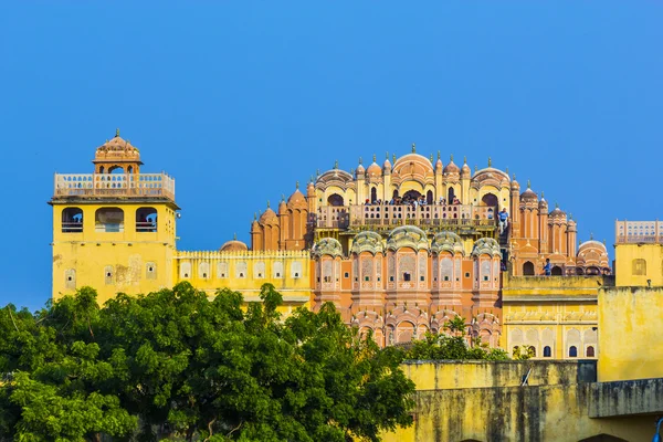
[[[171,286],[175,180],[143,173],[140,152],[119,130],[92,162],[93,173],[55,175],[53,298],[85,285],[96,288],[99,303]]]

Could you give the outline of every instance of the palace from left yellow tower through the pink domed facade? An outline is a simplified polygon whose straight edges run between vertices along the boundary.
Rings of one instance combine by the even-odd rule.
[[[103,302],[190,281],[256,301],[269,282],[285,313],[332,302],[380,345],[441,332],[462,316],[469,336],[504,347],[503,291],[514,281],[536,278],[546,260],[569,282],[610,273],[603,243],[577,246],[576,221],[557,206],[550,211],[529,182],[522,191],[491,159],[472,172],[466,161],[443,164],[440,154],[433,161],[413,145],[382,165],[375,156],[350,171],[335,164],[305,193],[296,186],[276,211],[267,204],[254,217],[250,246],[232,240],[217,251],[176,249],[175,180],[144,173],[138,149],[119,133],[93,164],[93,173],[55,176],[54,298],[91,285]],[[596,293],[593,304],[588,296],[572,308],[596,311]]]

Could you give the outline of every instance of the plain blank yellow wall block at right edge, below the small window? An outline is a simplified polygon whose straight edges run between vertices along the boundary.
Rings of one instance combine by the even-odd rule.
[[[663,287],[599,291],[599,381],[663,377]]]

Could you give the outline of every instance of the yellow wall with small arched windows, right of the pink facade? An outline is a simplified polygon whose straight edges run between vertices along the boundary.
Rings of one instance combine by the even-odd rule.
[[[533,346],[536,358],[546,346],[551,358],[598,356],[598,288],[612,284],[604,276],[509,276],[502,290],[504,348]],[[577,356],[570,356],[576,347]],[[594,356],[588,356],[590,347]]]

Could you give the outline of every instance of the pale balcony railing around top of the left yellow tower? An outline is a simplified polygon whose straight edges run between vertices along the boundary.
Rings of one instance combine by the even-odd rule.
[[[55,173],[54,197],[164,197],[175,201],[166,173]]]

